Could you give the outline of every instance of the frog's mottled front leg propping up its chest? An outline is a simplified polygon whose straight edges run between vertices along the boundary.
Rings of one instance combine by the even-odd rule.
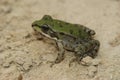
[[[64,50],[62,41],[60,41],[60,40],[56,41],[56,45],[57,45],[59,52],[58,52],[58,56],[57,56],[56,60],[54,62],[52,62],[51,67],[54,64],[60,63],[64,59],[65,50]]]

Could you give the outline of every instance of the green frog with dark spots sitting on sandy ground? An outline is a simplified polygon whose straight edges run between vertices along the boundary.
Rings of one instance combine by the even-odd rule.
[[[32,28],[38,34],[53,40],[58,49],[55,61],[51,67],[64,60],[65,50],[74,53],[75,58],[70,61],[80,63],[83,58],[98,55],[100,42],[94,39],[94,30],[81,24],[73,24],[63,20],[53,19],[50,15],[44,15],[42,19],[32,23]]]

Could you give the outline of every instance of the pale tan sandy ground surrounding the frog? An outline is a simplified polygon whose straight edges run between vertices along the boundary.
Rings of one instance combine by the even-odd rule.
[[[65,60],[50,68],[57,50],[35,40],[31,23],[45,14],[96,31],[101,43],[88,66]],[[120,80],[120,0],[0,0],[0,80]]]

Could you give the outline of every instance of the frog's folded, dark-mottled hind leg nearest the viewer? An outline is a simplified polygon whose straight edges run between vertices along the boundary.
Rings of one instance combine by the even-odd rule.
[[[83,45],[80,45],[78,47],[79,51],[75,55],[77,62],[80,63],[81,60],[86,56],[95,58],[97,56],[99,46],[100,46],[100,43],[98,40],[91,40]]]

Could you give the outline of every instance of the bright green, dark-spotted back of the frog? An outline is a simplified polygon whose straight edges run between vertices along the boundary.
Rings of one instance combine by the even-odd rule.
[[[77,38],[90,37],[90,34],[85,31],[88,28],[80,24],[71,24],[61,20],[52,19],[49,15],[45,15],[41,21],[42,24],[50,25],[52,29],[57,32],[67,33]]]

